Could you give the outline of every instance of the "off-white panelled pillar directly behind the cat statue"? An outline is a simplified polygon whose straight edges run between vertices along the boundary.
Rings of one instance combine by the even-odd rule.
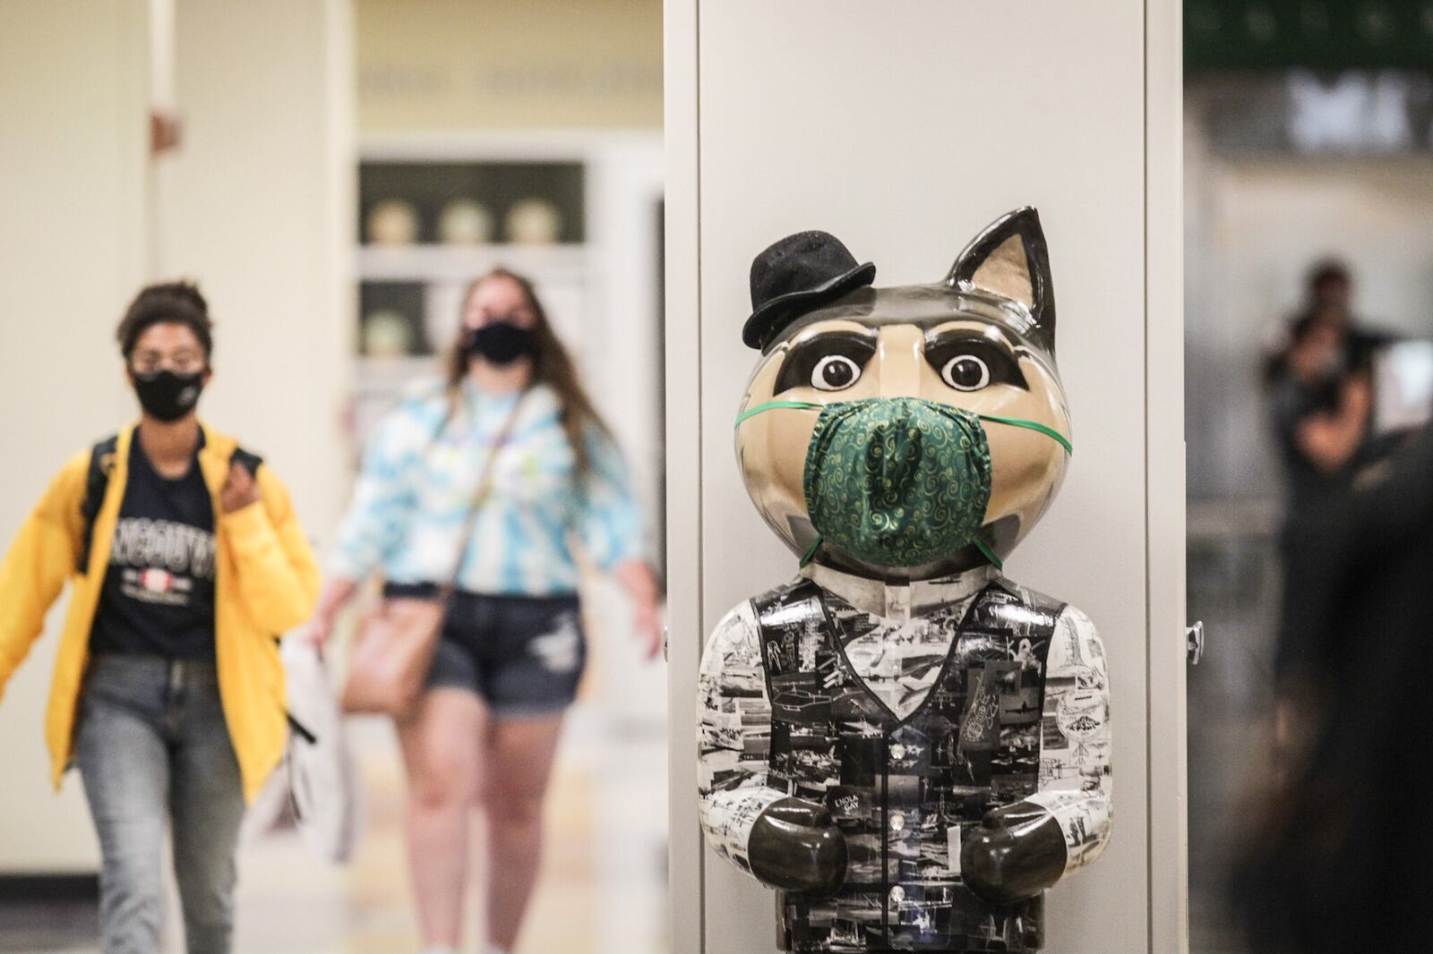
[[[1165,882],[1178,880],[1179,864],[1149,851],[1155,829],[1159,852],[1179,857],[1178,792],[1161,792],[1156,818],[1148,785],[1154,768],[1161,782],[1178,779],[1182,758],[1174,715],[1182,676],[1165,665],[1178,662],[1179,587],[1166,570],[1182,553],[1182,408],[1178,279],[1169,278],[1178,266],[1161,259],[1156,275],[1154,255],[1164,252],[1146,255],[1145,245],[1154,43],[1145,4],[669,0],[666,13],[669,401],[674,415],[695,411],[701,431],[692,441],[682,430],[689,420],[668,430],[676,950],[772,948],[770,892],[699,854],[692,832],[696,647],[725,610],[795,572],[747,500],[732,456],[732,415],[755,360],[739,341],[751,258],[782,235],[821,228],[876,261],[878,284],[929,282],[979,228],[1027,203],[1050,244],[1076,451],[1060,500],[1007,572],[1095,619],[1115,705],[1115,838],[1099,864],[1050,892],[1048,950],[1178,950],[1178,885]],[[1149,66],[1155,125],[1169,142],[1174,17],[1155,17]],[[1164,145],[1151,153],[1162,189],[1149,206],[1162,216],[1155,225],[1178,222],[1178,153]],[[1158,364],[1146,368],[1154,344]],[[1158,404],[1146,403],[1146,372]],[[1151,444],[1146,433],[1156,431],[1172,443]],[[1174,467],[1156,468],[1151,453]],[[1176,483],[1179,496],[1169,493]],[[1151,620],[1168,640],[1154,655]],[[1175,690],[1146,692],[1152,662],[1161,688]],[[1152,723],[1158,766],[1148,758]],[[1154,935],[1151,904],[1161,918]]]

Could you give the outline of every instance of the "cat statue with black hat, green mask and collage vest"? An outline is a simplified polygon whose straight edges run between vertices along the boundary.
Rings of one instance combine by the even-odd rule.
[[[1045,233],[1019,209],[939,284],[874,278],[825,232],[751,266],[737,457],[801,569],[706,642],[702,828],[782,951],[1037,951],[1112,781],[1093,625],[1002,573],[1073,450]]]

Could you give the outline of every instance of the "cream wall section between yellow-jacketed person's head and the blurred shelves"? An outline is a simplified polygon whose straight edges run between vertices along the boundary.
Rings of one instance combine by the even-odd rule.
[[[183,0],[183,143],[156,168],[156,268],[215,318],[202,414],[264,456],[320,544],[344,504],[354,153],[348,0]]]

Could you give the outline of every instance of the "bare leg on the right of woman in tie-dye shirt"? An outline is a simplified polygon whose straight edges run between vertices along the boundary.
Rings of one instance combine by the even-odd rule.
[[[487,938],[512,950],[542,859],[542,802],[562,716],[493,723],[484,805],[489,819]]]

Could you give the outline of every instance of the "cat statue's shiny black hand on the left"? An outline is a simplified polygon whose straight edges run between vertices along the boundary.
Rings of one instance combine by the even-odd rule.
[[[772,802],[747,842],[751,872],[772,888],[835,894],[845,881],[845,835],[831,812],[802,798]]]

